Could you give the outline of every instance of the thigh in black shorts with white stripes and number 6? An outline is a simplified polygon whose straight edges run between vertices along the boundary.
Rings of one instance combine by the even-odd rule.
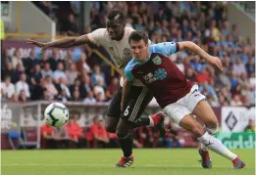
[[[153,95],[148,91],[148,88],[132,86],[122,111],[122,118],[134,122],[140,117],[152,99]]]

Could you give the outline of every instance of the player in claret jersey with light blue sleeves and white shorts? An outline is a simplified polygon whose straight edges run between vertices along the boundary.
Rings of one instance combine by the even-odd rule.
[[[165,113],[172,117],[180,127],[191,132],[204,146],[199,152],[204,168],[212,166],[207,149],[229,158],[233,163],[233,168],[243,168],[245,164],[239,156],[231,153],[220,140],[212,136],[212,133],[216,132],[217,121],[214,122],[215,113],[205,101],[205,96],[198,91],[197,85],[185,79],[178,66],[168,56],[180,50],[189,50],[199,55],[211,66],[223,70],[221,60],[208,55],[199,46],[189,41],[148,45],[148,37],[140,31],[133,31],[129,35],[129,45],[133,52],[133,59],[125,68],[127,82],[123,86],[123,102],[126,102],[131,82],[134,79],[140,79],[153,93]],[[205,129],[193,114],[205,123]],[[143,122],[143,119],[138,119],[138,122]]]

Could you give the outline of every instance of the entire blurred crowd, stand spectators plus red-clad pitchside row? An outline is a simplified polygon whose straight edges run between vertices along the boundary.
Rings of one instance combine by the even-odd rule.
[[[58,23],[61,34],[84,34],[78,29],[79,2],[34,3]],[[228,21],[223,2],[180,2],[179,6],[177,2],[94,1],[90,7],[90,26],[85,33],[105,27],[107,13],[121,9],[127,15],[127,26],[146,32],[154,43],[188,40],[222,60],[225,69],[220,72],[189,52],[170,57],[187,79],[199,85],[212,107],[255,106],[254,38],[238,33],[237,28],[243,26]],[[85,45],[67,50],[65,55],[59,49],[41,52],[34,48],[23,55],[20,49],[5,48],[1,53],[1,101],[109,102],[120,77],[111,75],[110,66],[91,52],[93,48]],[[98,50],[109,58],[102,48]],[[247,130],[251,128],[248,125]],[[137,148],[195,147],[196,143],[188,133],[165,137],[149,127],[137,128],[133,134]],[[76,115],[59,129],[43,125],[41,136],[42,148],[119,147],[116,134],[107,133],[104,121],[97,117],[88,128],[77,124]]]

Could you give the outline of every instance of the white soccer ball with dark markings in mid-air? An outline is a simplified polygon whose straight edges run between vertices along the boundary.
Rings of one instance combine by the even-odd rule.
[[[53,103],[44,110],[44,118],[47,124],[54,127],[63,126],[69,119],[69,109],[63,104]]]

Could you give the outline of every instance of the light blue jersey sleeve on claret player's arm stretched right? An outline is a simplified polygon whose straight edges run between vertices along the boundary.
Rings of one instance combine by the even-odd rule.
[[[159,53],[164,56],[170,56],[179,52],[179,44],[176,42],[163,42],[159,44],[153,44],[149,47],[150,54]]]

